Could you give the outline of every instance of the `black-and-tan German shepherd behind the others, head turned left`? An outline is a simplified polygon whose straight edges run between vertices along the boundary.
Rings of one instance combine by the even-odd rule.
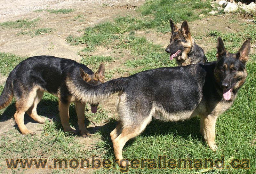
[[[170,19],[170,26],[172,37],[170,44],[165,49],[166,52],[171,54],[170,60],[176,58],[178,66],[208,62],[204,55],[204,50],[192,38],[186,20],[182,23],[181,28],[178,29]]]

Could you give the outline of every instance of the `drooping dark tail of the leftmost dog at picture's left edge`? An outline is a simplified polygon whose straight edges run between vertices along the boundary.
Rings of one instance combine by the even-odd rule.
[[[13,98],[12,76],[9,75],[6,80],[4,90],[0,96],[0,109],[7,107],[11,103],[12,98]]]

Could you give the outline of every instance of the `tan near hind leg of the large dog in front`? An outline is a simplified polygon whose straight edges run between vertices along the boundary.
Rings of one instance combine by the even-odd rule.
[[[136,118],[142,119],[140,116],[136,116]],[[122,150],[125,145],[125,143],[136,136],[138,136],[146,126],[150,123],[152,119],[152,115],[148,115],[148,117],[144,118],[143,121],[141,120],[133,120],[133,124],[130,123],[124,123],[122,124],[122,131],[121,134],[113,140],[113,146],[114,146],[114,153],[116,156],[116,159],[123,159]],[[140,124],[138,124],[140,123]],[[117,128],[117,130],[119,130]],[[120,163],[120,166],[125,166],[125,161]]]

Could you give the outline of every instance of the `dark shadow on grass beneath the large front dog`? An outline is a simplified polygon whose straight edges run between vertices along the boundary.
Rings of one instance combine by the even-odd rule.
[[[110,132],[117,126],[116,119],[109,119],[108,123],[103,126],[94,127],[93,131],[100,131],[102,139],[106,141],[105,146],[108,149],[107,154],[112,154],[114,158],[113,143],[110,138]],[[167,135],[172,134],[174,137],[183,137],[184,139],[193,138],[198,139],[204,143],[202,135],[200,133],[200,119],[195,117],[184,122],[161,122],[153,119],[146,129],[140,134],[142,137],[149,137],[152,135]],[[136,137],[130,139],[124,146],[132,146]],[[111,146],[111,148],[109,148]]]

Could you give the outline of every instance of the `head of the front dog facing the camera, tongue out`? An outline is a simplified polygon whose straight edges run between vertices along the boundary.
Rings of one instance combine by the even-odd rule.
[[[250,53],[250,40],[246,40],[239,51],[233,54],[226,51],[222,39],[217,41],[217,64],[214,69],[216,82],[223,90],[223,98],[231,99],[231,92],[237,91],[245,82],[247,72],[245,63]]]

